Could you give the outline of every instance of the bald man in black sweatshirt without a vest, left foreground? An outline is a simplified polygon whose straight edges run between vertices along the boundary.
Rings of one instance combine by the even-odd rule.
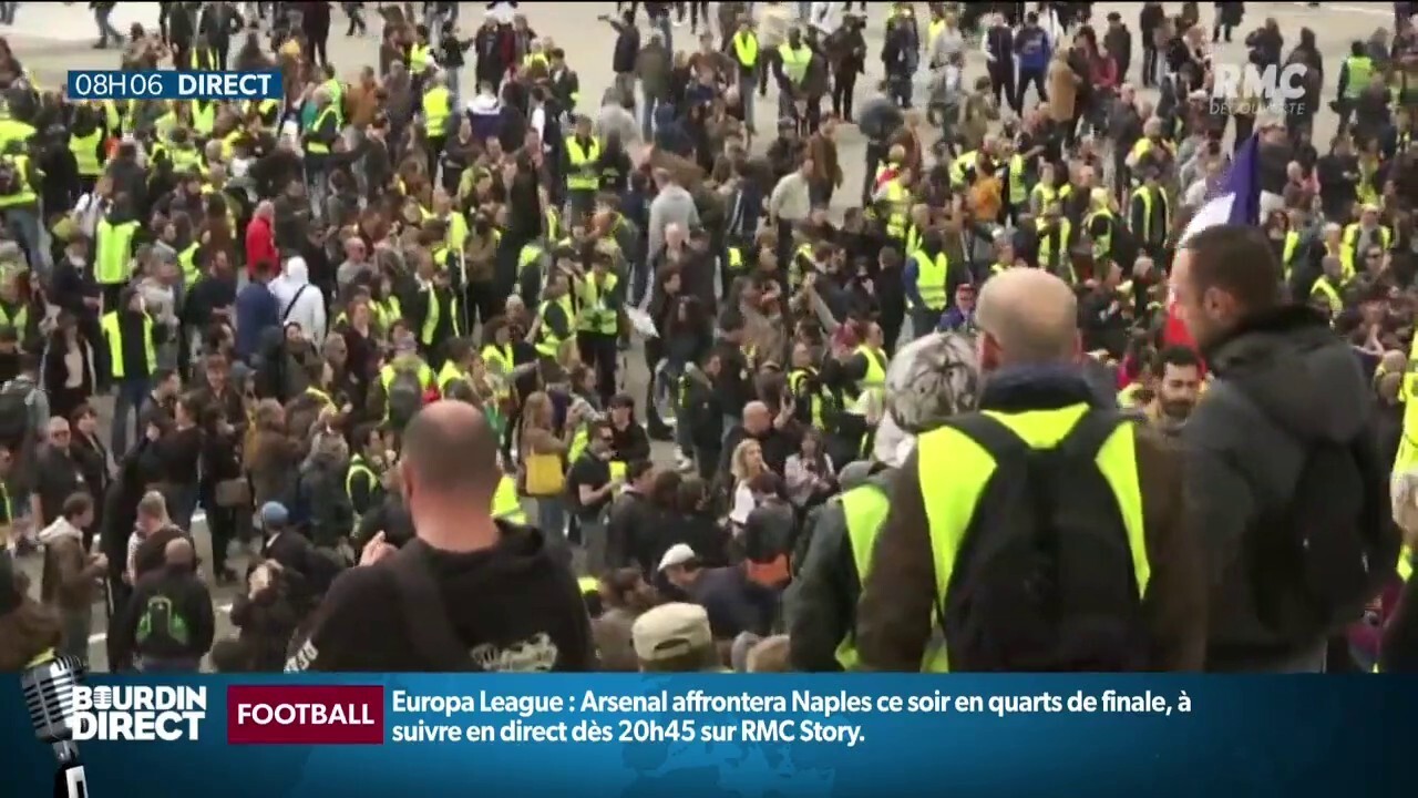
[[[286,670],[594,670],[564,542],[493,520],[498,439],[472,405],[425,406],[404,429],[398,481],[415,538],[383,535],[330,585]]]

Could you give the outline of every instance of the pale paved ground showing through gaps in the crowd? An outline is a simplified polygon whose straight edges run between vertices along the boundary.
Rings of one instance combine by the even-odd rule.
[[[1127,24],[1133,27],[1134,54],[1133,74],[1130,75],[1133,81],[1137,80],[1137,68],[1141,61],[1141,45],[1137,43],[1136,35],[1140,6],[1141,3],[1106,3],[1095,6],[1095,23],[1099,26],[1103,26],[1103,14],[1117,10]],[[1168,6],[1173,11],[1177,9],[1176,3],[1170,3]],[[119,3],[113,14],[113,24],[123,33],[128,31],[129,24],[133,21],[156,30],[157,7],[157,3]],[[868,60],[868,71],[873,77],[881,75],[881,62],[875,54],[881,45],[881,18],[885,7],[885,3],[873,4],[873,17],[868,26],[868,44],[872,54]],[[608,58],[611,43],[614,41],[614,31],[610,26],[597,21],[596,17],[614,11],[614,4],[523,3],[522,9],[527,14],[532,27],[543,38],[550,38],[557,47],[562,47],[567,54],[569,64],[580,74],[583,106],[579,111],[594,112],[594,104],[600,101],[601,94],[611,85],[613,75]],[[917,3],[917,9],[923,13],[925,4]],[[461,11],[461,28],[471,34],[481,20],[484,4],[462,3]],[[1201,4],[1202,26],[1210,28],[1212,13],[1214,7],[1211,3]],[[1297,40],[1300,27],[1314,30],[1329,72],[1326,78],[1326,99],[1333,95],[1339,67],[1349,53],[1350,41],[1368,37],[1375,27],[1391,28],[1392,26],[1392,16],[1387,3],[1324,4],[1319,9],[1309,9],[1305,3],[1246,3],[1245,24],[1236,31],[1235,44],[1219,47],[1218,60],[1235,64],[1244,62],[1245,48],[1241,41],[1245,38],[1245,33],[1261,26],[1266,16],[1273,16],[1279,20],[1280,28],[1286,34],[1286,50]],[[330,38],[330,58],[346,78],[354,78],[363,65],[377,61],[377,21],[370,23],[370,35],[347,38],[342,35],[345,30],[343,17],[337,14],[332,30],[335,35]],[[34,72],[44,88],[62,85],[68,70],[115,68],[118,64],[118,55],[113,51],[92,48],[92,43],[96,41],[96,26],[85,3],[21,3],[17,24],[10,27],[0,26],[0,34],[9,40],[13,51]],[[688,26],[676,27],[674,37],[681,48],[693,45],[689,40]],[[967,82],[983,74],[984,57],[973,53],[968,62]],[[472,70],[469,68],[462,77],[461,84],[472,87]],[[875,81],[859,81],[859,91],[868,91],[866,87],[872,82]],[[773,124],[767,112],[774,108],[776,98],[771,95],[767,102],[759,101],[760,131],[771,131]],[[1322,151],[1327,146],[1324,142],[1334,132],[1334,121],[1333,114],[1326,108],[1316,125],[1314,135],[1314,141]],[[766,142],[763,143],[766,145]],[[845,172],[845,186],[848,189],[837,193],[837,202],[841,207],[845,207],[855,202],[858,187],[864,179],[865,149],[862,138],[851,128],[844,129],[839,136],[839,151],[842,170]],[[644,359],[638,351],[631,354],[630,365],[627,389],[637,398],[644,396],[647,373]],[[655,444],[655,459],[662,464],[674,463],[672,452],[666,444]],[[194,524],[194,527],[193,531],[197,535],[201,557],[210,562],[210,545],[206,530],[201,524]],[[240,561],[237,565],[240,567]],[[26,568],[33,578],[38,578],[35,557],[26,561]],[[225,609],[230,606],[231,596],[231,589],[218,591],[218,605]],[[101,623],[102,619],[99,619],[99,626],[95,628],[92,655],[94,667],[99,670],[106,669]],[[218,636],[231,632],[224,618],[218,626]]]

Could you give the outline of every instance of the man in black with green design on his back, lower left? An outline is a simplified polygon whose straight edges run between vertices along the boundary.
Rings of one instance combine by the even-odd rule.
[[[172,538],[162,551],[163,567],[138,579],[109,623],[109,662],[130,662],[140,673],[196,673],[217,630],[211,594],[190,538]]]

